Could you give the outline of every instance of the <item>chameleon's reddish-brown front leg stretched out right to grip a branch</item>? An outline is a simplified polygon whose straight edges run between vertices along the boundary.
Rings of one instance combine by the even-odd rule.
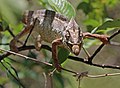
[[[107,35],[91,34],[89,32],[86,32],[86,33],[83,33],[83,37],[84,38],[89,38],[89,37],[97,38],[104,44],[109,44],[109,40],[108,40],[109,37]]]

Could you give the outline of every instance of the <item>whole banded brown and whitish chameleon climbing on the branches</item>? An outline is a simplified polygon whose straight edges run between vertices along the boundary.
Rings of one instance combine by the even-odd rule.
[[[108,36],[88,32],[83,33],[74,18],[69,20],[67,17],[51,10],[26,11],[23,23],[25,27],[22,32],[11,40],[10,49],[18,52],[16,46],[18,40],[30,33],[31,30],[31,34],[35,31],[34,44],[36,50],[40,50],[42,41],[51,43],[52,58],[54,66],[58,71],[61,70],[61,66],[57,57],[57,46],[67,48],[73,54],[78,55],[84,38],[94,37],[101,40],[104,44],[109,43]]]

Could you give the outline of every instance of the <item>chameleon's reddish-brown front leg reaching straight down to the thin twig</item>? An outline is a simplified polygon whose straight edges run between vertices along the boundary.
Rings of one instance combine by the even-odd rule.
[[[62,44],[62,39],[56,39],[52,42],[52,58],[54,62],[54,66],[58,71],[61,71],[61,66],[58,61],[58,52],[57,47]]]

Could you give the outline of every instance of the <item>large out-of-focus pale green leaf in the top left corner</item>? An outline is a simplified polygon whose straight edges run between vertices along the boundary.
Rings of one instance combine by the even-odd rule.
[[[25,0],[0,0],[0,18],[8,24],[15,24],[21,18],[21,13],[26,7]]]

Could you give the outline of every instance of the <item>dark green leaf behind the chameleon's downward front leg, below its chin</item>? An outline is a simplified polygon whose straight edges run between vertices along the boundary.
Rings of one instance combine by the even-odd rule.
[[[65,48],[59,48],[59,51],[58,51],[59,62],[63,63],[67,59],[69,53],[70,52],[67,49],[65,49]]]

